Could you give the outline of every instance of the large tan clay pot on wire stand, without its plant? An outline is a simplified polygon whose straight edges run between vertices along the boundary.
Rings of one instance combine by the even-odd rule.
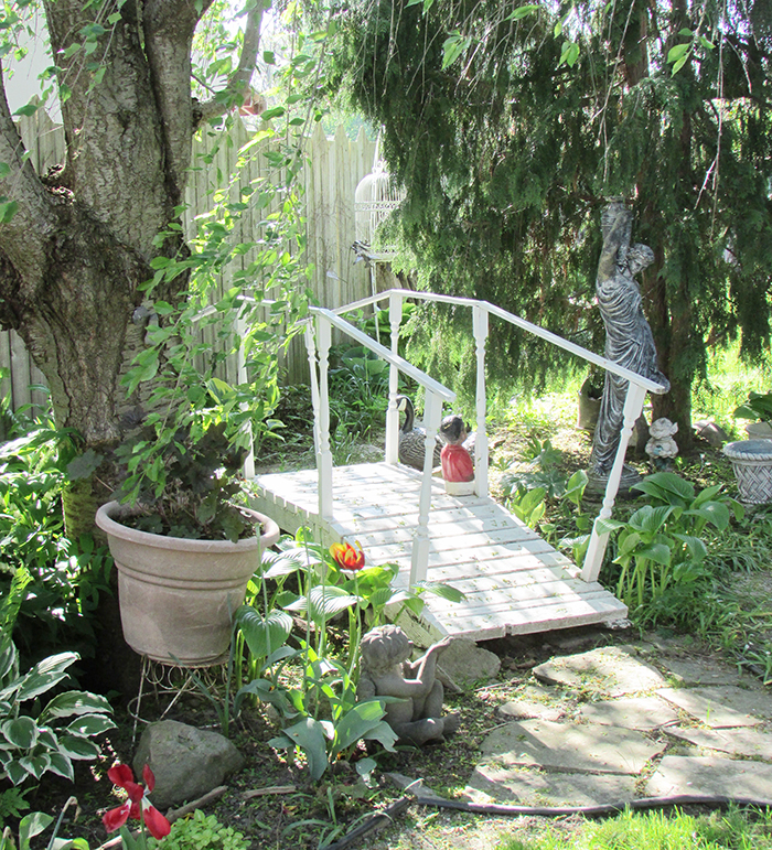
[[[107,534],[118,568],[126,643],[169,665],[201,667],[223,659],[230,617],[244,602],[260,551],[279,538],[272,519],[253,512],[262,534],[238,540],[187,540],[121,525],[121,506],[103,505],[96,524]]]

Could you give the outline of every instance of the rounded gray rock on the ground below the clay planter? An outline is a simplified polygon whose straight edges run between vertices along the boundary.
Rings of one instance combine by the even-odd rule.
[[[135,775],[149,764],[156,775],[150,795],[159,809],[197,799],[244,765],[244,756],[223,735],[175,720],[151,723],[133,760]]]

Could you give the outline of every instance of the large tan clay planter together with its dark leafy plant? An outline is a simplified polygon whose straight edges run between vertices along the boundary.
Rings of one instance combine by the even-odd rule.
[[[148,437],[118,450],[129,469]],[[246,506],[246,450],[234,448],[225,422],[189,424],[156,448],[152,475],[135,470],[96,515],[118,569],[124,637],[157,661],[214,664],[227,652],[230,617],[279,528]]]

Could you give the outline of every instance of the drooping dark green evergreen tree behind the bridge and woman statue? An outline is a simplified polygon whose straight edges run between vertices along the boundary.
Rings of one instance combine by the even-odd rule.
[[[772,15],[765,0],[360,0],[335,86],[384,128],[422,286],[473,294],[602,349],[605,198],[633,204],[642,291],[690,442],[709,345],[770,340]],[[527,376],[533,343],[492,354]],[[514,333],[514,332],[513,332]],[[437,346],[435,346],[435,349]],[[551,356],[555,356],[554,354]]]

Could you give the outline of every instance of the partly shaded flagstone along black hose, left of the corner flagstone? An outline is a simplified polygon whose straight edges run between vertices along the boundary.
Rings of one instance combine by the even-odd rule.
[[[620,774],[553,773],[481,762],[464,796],[473,803],[519,806],[598,806],[631,800],[635,777]]]

